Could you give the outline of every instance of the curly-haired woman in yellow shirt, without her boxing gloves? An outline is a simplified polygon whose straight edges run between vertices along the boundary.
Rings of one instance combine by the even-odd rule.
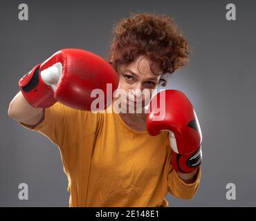
[[[143,97],[137,89],[156,88],[160,77],[188,62],[188,42],[170,17],[132,14],[116,23],[113,34],[109,64],[119,75],[118,88],[128,93],[121,100],[126,109],[136,110],[137,97]],[[35,108],[19,92],[8,114],[60,148],[69,206],[168,206],[167,193],[191,199],[201,168],[191,173],[173,169],[167,132],[147,133],[146,98],[139,113],[92,113],[60,102]]]

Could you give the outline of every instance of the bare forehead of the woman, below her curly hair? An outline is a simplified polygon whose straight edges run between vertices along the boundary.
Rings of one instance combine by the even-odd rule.
[[[151,66],[151,67],[150,67]],[[141,55],[136,57],[130,64],[124,64],[120,66],[120,70],[131,70],[137,75],[143,75],[144,77],[156,77],[161,75],[161,68],[152,61]]]

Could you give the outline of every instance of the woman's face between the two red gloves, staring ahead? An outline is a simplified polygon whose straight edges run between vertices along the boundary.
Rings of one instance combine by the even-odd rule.
[[[125,92],[121,103],[126,110],[138,111],[149,104],[153,90],[161,77],[162,70],[159,66],[150,65],[152,62],[145,56],[137,57],[131,64],[118,68],[120,76],[118,90]],[[153,72],[152,72],[153,71]],[[130,112],[129,112],[130,113]]]

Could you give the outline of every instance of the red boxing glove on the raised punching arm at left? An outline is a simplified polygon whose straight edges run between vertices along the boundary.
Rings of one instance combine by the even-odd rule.
[[[104,107],[111,104],[113,91],[118,88],[118,74],[98,55],[80,49],[56,52],[43,64],[33,68],[19,80],[27,102],[37,108],[47,108],[61,102],[66,106],[91,111],[94,89],[104,93]],[[111,95],[107,93],[111,84]]]

